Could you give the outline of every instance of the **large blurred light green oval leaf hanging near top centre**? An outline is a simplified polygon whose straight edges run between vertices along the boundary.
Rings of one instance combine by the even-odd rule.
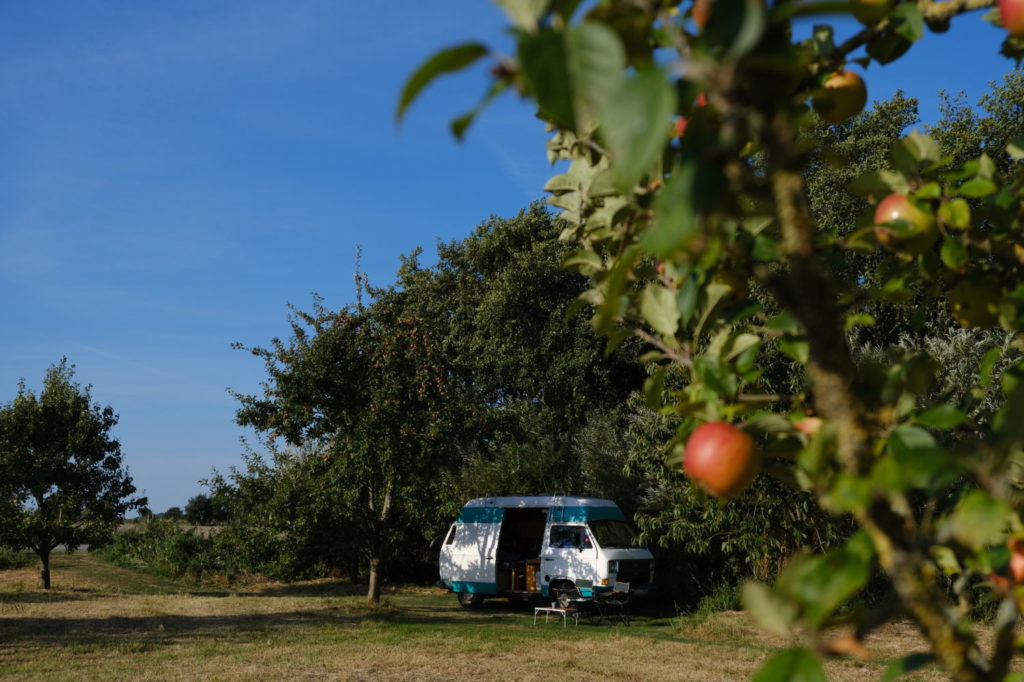
[[[662,158],[675,111],[676,91],[657,68],[624,79],[610,96],[600,100],[601,133],[622,191],[632,191]]]

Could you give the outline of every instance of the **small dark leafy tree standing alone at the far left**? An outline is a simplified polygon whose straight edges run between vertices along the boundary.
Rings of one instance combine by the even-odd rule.
[[[50,552],[108,540],[125,512],[146,504],[111,435],[118,417],[74,382],[67,359],[50,367],[38,395],[23,380],[0,407],[0,472],[6,481],[0,540],[39,556],[50,588]]]

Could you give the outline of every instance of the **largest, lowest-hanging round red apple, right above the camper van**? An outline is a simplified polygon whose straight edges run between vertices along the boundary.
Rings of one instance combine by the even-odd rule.
[[[725,422],[698,426],[683,453],[686,475],[716,498],[736,497],[760,469],[761,453],[754,438]]]

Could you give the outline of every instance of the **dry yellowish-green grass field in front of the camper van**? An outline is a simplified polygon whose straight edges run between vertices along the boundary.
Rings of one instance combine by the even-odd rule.
[[[742,680],[788,644],[742,613],[635,615],[562,628],[503,600],[461,609],[437,589],[388,591],[377,608],[344,583],[189,586],[57,554],[53,589],[34,568],[0,571],[0,677],[25,680]],[[829,679],[878,680],[924,649],[898,624],[872,658],[835,659]],[[925,669],[901,679],[944,679]]]

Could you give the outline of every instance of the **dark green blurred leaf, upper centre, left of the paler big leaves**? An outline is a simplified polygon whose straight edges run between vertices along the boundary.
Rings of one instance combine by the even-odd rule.
[[[565,36],[550,29],[519,37],[519,65],[541,116],[562,130],[575,129],[572,81]]]

